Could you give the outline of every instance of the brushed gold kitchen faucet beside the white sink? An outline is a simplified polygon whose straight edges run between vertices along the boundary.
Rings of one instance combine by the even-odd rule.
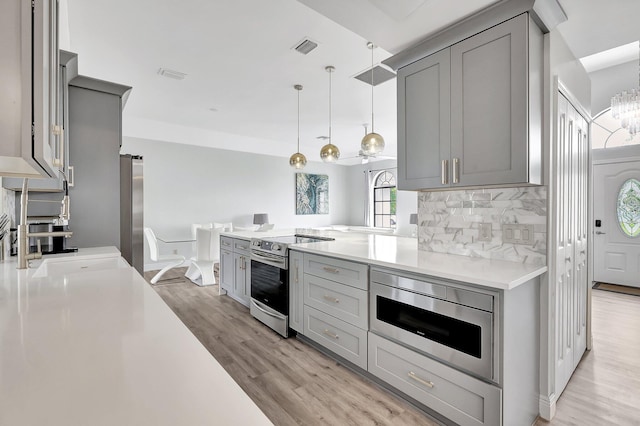
[[[38,250],[35,253],[29,253],[29,237],[66,237],[73,235],[71,231],[53,231],[53,232],[29,232],[27,225],[27,204],[29,203],[28,181],[25,178],[22,182],[22,194],[20,195],[20,225],[18,225],[18,269],[27,269],[29,261],[32,259],[40,259],[42,257],[42,249],[40,241],[37,242]],[[60,211],[60,220],[69,220],[69,187],[67,181],[64,181],[64,197],[62,198],[62,208]]]

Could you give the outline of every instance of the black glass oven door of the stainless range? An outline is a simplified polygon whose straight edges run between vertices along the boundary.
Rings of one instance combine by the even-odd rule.
[[[261,253],[256,258],[251,254],[251,298],[274,309],[282,315],[289,315],[289,271],[275,266],[278,259],[264,263]],[[260,260],[256,260],[260,259]],[[286,266],[286,258],[282,259]]]

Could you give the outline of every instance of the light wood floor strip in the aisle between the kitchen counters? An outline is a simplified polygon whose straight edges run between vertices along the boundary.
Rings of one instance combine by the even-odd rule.
[[[281,338],[218,286],[170,270],[153,288],[277,426],[425,425],[421,411],[295,338]],[[145,273],[147,281],[155,272]]]

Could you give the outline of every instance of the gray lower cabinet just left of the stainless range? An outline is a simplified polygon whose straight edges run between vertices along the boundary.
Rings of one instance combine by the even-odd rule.
[[[245,306],[251,298],[250,241],[220,237],[220,286],[227,295]]]

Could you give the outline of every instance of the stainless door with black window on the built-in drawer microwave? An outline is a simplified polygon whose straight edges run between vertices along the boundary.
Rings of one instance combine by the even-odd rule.
[[[377,334],[494,380],[491,312],[377,283],[370,298]]]

